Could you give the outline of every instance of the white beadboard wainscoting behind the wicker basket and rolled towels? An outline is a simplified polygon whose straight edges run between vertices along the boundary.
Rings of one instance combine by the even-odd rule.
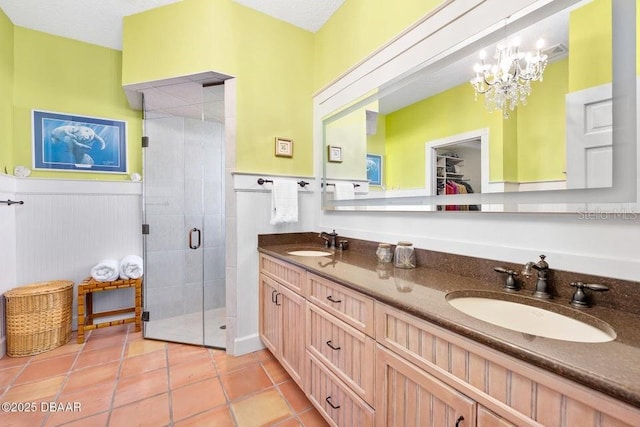
[[[56,279],[77,285],[102,259],[142,255],[141,194],[133,182],[0,178],[0,198],[24,201],[11,211],[0,206],[0,289]],[[96,310],[130,305],[127,291],[96,295]],[[74,291],[74,329],[75,307]]]

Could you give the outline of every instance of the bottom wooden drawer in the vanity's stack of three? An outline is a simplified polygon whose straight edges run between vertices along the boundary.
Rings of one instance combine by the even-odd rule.
[[[373,426],[374,411],[311,353],[307,352],[307,394],[332,426]]]

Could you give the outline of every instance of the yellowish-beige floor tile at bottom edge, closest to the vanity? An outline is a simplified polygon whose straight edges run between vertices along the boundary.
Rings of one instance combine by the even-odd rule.
[[[238,425],[242,427],[275,424],[293,416],[289,406],[275,388],[232,402],[231,408]]]

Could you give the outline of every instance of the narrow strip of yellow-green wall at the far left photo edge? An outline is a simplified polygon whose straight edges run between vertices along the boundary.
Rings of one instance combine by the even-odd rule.
[[[0,173],[13,173],[13,24],[0,10]]]

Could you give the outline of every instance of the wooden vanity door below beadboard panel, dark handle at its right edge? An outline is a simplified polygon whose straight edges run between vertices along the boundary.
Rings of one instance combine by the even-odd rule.
[[[469,427],[476,403],[378,345],[376,425]]]

